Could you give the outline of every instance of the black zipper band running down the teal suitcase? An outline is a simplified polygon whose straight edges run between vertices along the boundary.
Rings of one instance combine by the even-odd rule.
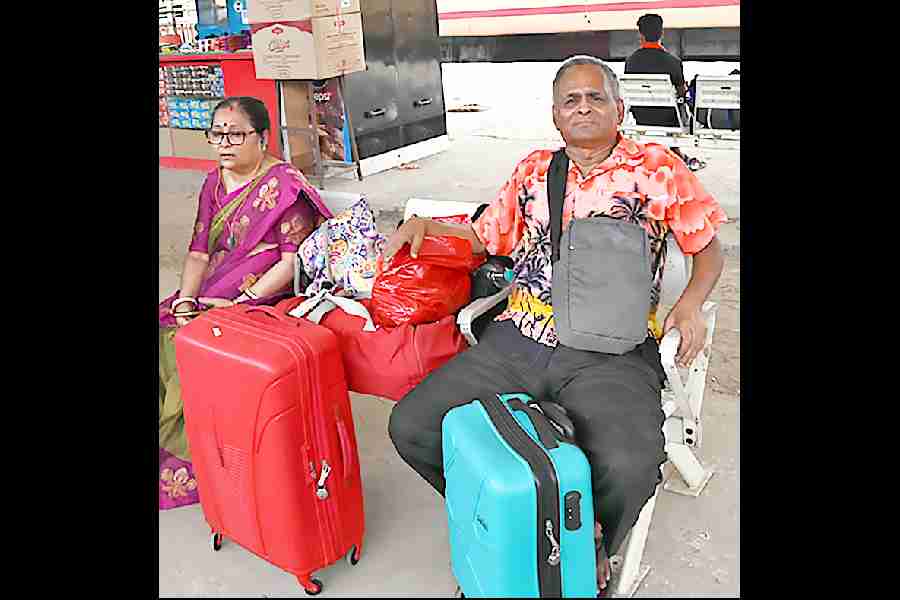
[[[562,572],[559,567],[559,543],[555,532],[559,529],[559,480],[553,462],[546,451],[522,430],[516,418],[507,410],[498,395],[481,400],[488,417],[500,436],[518,452],[531,467],[537,492],[538,589],[542,598],[562,597]],[[547,485],[547,484],[550,485]],[[541,527],[543,525],[543,527]]]

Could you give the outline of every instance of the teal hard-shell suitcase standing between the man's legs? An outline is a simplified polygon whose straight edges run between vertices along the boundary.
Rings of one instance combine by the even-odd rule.
[[[467,598],[597,596],[591,470],[560,408],[506,394],[444,417],[450,557]]]

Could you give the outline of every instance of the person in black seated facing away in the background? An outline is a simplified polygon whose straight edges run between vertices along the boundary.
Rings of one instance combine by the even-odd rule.
[[[688,86],[684,81],[684,69],[681,60],[663,48],[663,20],[655,14],[642,15],[637,22],[640,32],[641,47],[625,60],[626,74],[663,74],[668,75],[675,86],[675,93],[684,100]],[[659,127],[678,127],[678,119],[670,108],[657,106],[635,106],[631,108],[634,120],[638,125],[656,125]],[[705,163],[689,158],[680,148],[671,148],[692,170],[703,168]]]

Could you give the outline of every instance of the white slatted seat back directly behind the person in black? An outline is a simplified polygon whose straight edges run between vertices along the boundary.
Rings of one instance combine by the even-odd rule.
[[[675,86],[665,74],[627,74],[619,77],[619,93],[625,103],[625,120],[620,129],[629,138],[641,142],[653,142],[664,146],[685,147],[696,145],[690,123],[682,118],[681,108],[687,106],[678,101]],[[677,127],[639,125],[631,114],[634,106],[670,108],[678,120]]]

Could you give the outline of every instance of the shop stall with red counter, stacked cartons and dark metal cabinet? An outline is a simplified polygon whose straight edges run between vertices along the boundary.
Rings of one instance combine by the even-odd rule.
[[[210,0],[197,8],[197,38],[166,43],[161,30],[160,166],[215,167],[205,130],[229,96],[262,100],[270,152],[320,183],[449,146],[434,0]]]

